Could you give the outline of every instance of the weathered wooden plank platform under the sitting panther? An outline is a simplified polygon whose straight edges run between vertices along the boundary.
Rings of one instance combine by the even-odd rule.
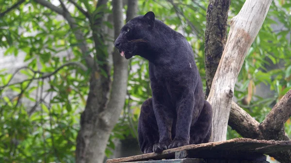
[[[111,159],[106,163],[124,163],[149,161],[148,163],[204,163],[203,159],[249,160],[247,163],[268,163],[264,154],[291,149],[291,141],[254,140],[248,138],[235,138],[222,142],[210,142],[198,145],[188,145],[172,148],[161,153],[147,153],[142,155]],[[188,159],[185,159],[188,158]],[[189,160],[189,158],[192,158]],[[196,160],[194,160],[194,158]],[[153,160],[153,161],[150,161]],[[160,160],[160,161],[155,161]],[[206,163],[206,162],[205,162]],[[233,161],[232,163],[242,163]],[[244,163],[244,162],[243,162]]]

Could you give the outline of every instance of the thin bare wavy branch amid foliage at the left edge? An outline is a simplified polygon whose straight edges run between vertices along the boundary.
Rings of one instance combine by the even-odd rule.
[[[58,71],[60,71],[62,68],[66,67],[66,66],[71,66],[71,65],[79,66],[83,71],[87,71],[87,67],[84,66],[84,65],[83,65],[82,63],[80,63],[80,62],[67,62],[67,63],[63,64],[62,66],[58,67],[55,71],[53,71],[53,72],[51,72],[51,73],[43,73],[43,72],[39,72],[39,71],[33,71],[31,68],[25,66],[25,67],[21,67],[21,68],[17,69],[16,72],[12,75],[11,79],[8,81],[8,83],[7,83],[6,85],[0,87],[0,90],[1,90],[1,89],[4,89],[5,87],[13,86],[13,85],[16,85],[16,84],[22,84],[22,83],[27,82],[27,81],[32,81],[32,80],[36,80],[36,79],[45,79],[45,78],[48,78],[48,77],[50,77],[51,75],[56,74],[56,73],[57,73]],[[11,82],[13,76],[14,76],[18,71],[20,71],[21,69],[24,69],[24,68],[27,68],[27,69],[32,70],[32,72],[34,72],[34,74],[39,73],[39,74],[43,74],[43,75],[41,75],[40,77],[31,78],[31,79],[25,79],[25,80],[20,81],[20,82],[16,82],[16,83],[9,84],[9,83]]]

